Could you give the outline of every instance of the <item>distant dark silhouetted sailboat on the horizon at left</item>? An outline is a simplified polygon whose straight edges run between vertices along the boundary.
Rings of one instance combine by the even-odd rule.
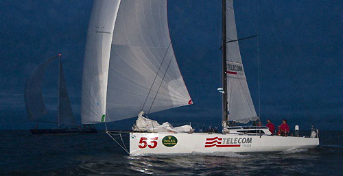
[[[25,84],[25,106],[26,112],[29,116],[29,121],[42,123],[56,123],[55,129],[38,129],[36,123],[35,129],[29,129],[32,134],[79,134],[79,133],[96,133],[97,130],[93,125],[84,125],[84,127],[77,126],[73,111],[71,110],[71,103],[67,91],[67,83],[64,79],[64,72],[62,67],[61,54],[50,58],[49,60],[39,64],[34,73],[27,79]],[[45,70],[51,62],[58,60],[59,74],[58,74],[58,116],[56,121],[46,120],[47,109],[43,101],[42,82],[45,75]],[[74,127],[62,127],[62,125],[69,125]]]

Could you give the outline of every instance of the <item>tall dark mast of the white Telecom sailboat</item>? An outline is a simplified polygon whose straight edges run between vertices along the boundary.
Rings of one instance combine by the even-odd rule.
[[[226,80],[226,0],[222,0],[222,88],[224,93],[222,94],[222,115],[223,126],[228,121],[228,88]]]

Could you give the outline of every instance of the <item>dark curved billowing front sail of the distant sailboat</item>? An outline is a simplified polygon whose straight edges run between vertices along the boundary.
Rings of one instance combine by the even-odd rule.
[[[43,121],[40,117],[47,114],[42,94],[42,81],[45,75],[45,68],[56,59],[51,58],[38,65],[34,73],[27,79],[25,84],[25,107],[29,121]],[[57,121],[55,121],[57,123]]]

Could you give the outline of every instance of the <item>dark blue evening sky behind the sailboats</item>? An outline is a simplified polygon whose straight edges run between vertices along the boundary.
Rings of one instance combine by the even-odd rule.
[[[25,112],[25,81],[38,64],[57,53],[62,53],[73,113],[80,121],[82,64],[92,3],[0,1],[0,129],[34,127]],[[174,125],[220,127],[221,1],[189,0],[186,4],[185,0],[168,0],[167,12],[176,58],[194,105],[150,118]],[[234,7],[239,38],[259,35],[241,40],[239,47],[261,121],[270,118],[279,124],[287,118],[291,128],[309,129],[311,118],[321,130],[342,130],[343,1],[239,0]],[[47,118],[57,116],[57,66],[49,67],[43,86]],[[130,128],[134,120],[118,121],[112,127]]]

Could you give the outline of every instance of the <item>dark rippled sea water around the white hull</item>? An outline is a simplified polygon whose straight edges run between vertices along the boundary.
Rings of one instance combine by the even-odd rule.
[[[104,131],[33,136],[0,131],[0,175],[343,175],[343,131],[281,153],[128,156]]]

